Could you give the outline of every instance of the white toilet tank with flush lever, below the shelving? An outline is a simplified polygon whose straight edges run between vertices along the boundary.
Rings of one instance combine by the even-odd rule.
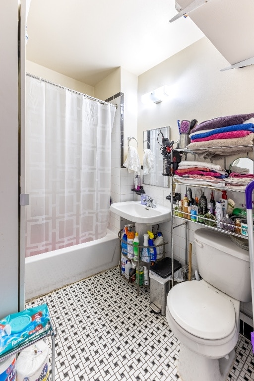
[[[209,229],[194,232],[198,271],[208,283],[241,302],[252,300],[249,251],[229,235]]]

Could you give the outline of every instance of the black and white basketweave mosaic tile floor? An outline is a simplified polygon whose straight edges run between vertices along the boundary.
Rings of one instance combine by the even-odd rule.
[[[58,329],[56,381],[179,379],[179,342],[166,317],[150,311],[149,288],[137,296],[136,286],[125,282],[117,267],[30,301],[26,308],[45,302]],[[239,335],[228,381],[254,380],[251,349]]]

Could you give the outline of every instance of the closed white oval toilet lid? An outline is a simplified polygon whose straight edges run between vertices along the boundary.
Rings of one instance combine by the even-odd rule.
[[[168,294],[167,309],[182,328],[203,339],[222,339],[235,329],[233,303],[201,281],[174,286]]]

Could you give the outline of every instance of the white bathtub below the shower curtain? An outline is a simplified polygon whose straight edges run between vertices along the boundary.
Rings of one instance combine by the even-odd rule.
[[[25,258],[25,301],[62,288],[119,263],[117,234]]]

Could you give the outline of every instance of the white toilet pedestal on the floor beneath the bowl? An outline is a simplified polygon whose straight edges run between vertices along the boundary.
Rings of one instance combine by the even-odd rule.
[[[235,358],[234,349],[228,359],[210,359],[192,352],[181,343],[178,374],[183,381],[226,381]]]

